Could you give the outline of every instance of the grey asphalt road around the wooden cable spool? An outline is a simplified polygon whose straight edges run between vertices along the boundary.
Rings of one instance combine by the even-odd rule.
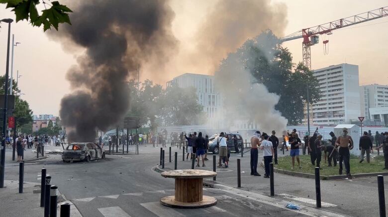
[[[194,210],[172,209],[160,205],[162,197],[174,195],[174,180],[163,178],[152,168],[159,163],[159,148],[140,147],[140,155],[107,155],[106,160],[91,163],[62,163],[60,155],[50,155],[38,163],[26,163],[24,180],[40,182],[40,170],[45,167],[52,176],[52,184],[58,185],[60,192],[72,201],[84,217],[137,217],[137,216],[303,216],[287,210],[280,200],[288,200],[295,204],[313,209],[313,204],[307,200],[315,200],[314,180],[276,174],[276,200],[266,202],[260,195],[269,194],[268,179],[249,176],[247,163],[249,155],[242,160],[243,190],[258,193],[259,198],[251,198],[240,193],[223,191],[221,189],[204,190],[204,195],[217,198],[217,205]],[[178,149],[179,150],[179,149]],[[173,148],[173,152],[177,148]],[[181,151],[181,150],[180,150]],[[179,152],[178,152],[179,153]],[[190,168],[191,163],[182,162],[182,153],[178,157],[179,168]],[[218,169],[217,182],[225,186],[236,186],[235,159],[232,154],[228,169]],[[211,159],[211,155],[208,157]],[[259,157],[259,159],[261,159]],[[172,167],[168,161],[166,151],[166,167]],[[210,169],[212,161],[206,161],[206,168]],[[263,170],[259,169],[263,174]],[[18,179],[16,163],[7,163],[5,179]],[[378,200],[376,181],[373,178],[353,180],[322,181],[322,201],[335,205],[326,210],[346,216],[377,216]],[[387,179],[386,179],[386,184]],[[387,186],[387,185],[386,185]],[[386,187],[387,189],[387,187]],[[286,196],[280,196],[286,194]],[[291,195],[291,196],[287,196]],[[387,191],[386,191],[386,195]],[[285,197],[298,197],[298,200]],[[363,203],[365,201],[365,203]],[[311,202],[311,201],[310,201]],[[373,206],[372,206],[373,205]],[[312,213],[304,213],[313,216]],[[326,215],[334,216],[334,215]]]

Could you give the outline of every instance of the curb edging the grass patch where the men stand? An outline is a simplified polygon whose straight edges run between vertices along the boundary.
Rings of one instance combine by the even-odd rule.
[[[291,175],[291,176],[297,176],[297,177],[304,177],[309,179],[315,179],[314,174],[310,173],[300,173],[300,172],[294,172],[289,170],[281,170],[274,168],[274,172],[285,174],[285,175]],[[377,175],[383,175],[387,176],[388,172],[378,172],[378,173],[358,173],[358,174],[352,174],[353,177],[368,177],[368,176],[377,176]],[[346,178],[346,175],[331,175],[331,176],[319,176],[321,180],[336,180],[336,179],[343,179]]]

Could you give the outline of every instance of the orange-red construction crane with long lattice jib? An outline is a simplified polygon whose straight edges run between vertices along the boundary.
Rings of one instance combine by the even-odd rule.
[[[371,10],[365,13],[360,13],[354,16],[349,16],[346,18],[338,19],[332,22],[325,24],[317,25],[310,28],[305,28],[294,32],[290,35],[281,39],[281,42],[291,41],[298,38],[303,38],[302,50],[303,50],[303,64],[311,70],[311,55],[310,55],[310,46],[319,43],[319,35],[332,34],[332,31],[335,29],[355,25],[358,23],[378,19],[384,16],[388,16],[388,6],[381,7],[375,10]],[[329,40],[324,40],[323,44],[326,48]],[[325,53],[327,51],[325,50]]]

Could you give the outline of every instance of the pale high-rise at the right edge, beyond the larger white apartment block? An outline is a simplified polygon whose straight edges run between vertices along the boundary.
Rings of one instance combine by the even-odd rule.
[[[380,119],[380,116],[373,116],[370,108],[388,107],[388,86],[387,85],[365,85],[360,86],[361,113],[368,119]]]

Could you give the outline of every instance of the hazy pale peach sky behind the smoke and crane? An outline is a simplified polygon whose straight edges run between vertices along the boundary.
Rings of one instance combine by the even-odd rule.
[[[269,5],[272,13],[263,13],[260,20],[255,22],[258,15],[251,15],[248,12],[258,10],[258,13],[262,13],[259,11],[260,7],[253,7],[253,9],[238,7],[236,10],[230,10],[229,13],[224,2],[218,0],[171,0],[170,6],[175,12],[172,31],[179,41],[177,54],[171,57],[171,61],[166,63],[158,76],[153,76],[151,70],[147,69],[147,65],[141,67],[140,80],[154,79],[164,85],[168,80],[184,73],[212,75],[218,62],[226,56],[227,52],[234,51],[246,39],[259,33],[255,32],[255,23],[258,25],[257,31],[265,27],[273,27],[274,32],[279,37],[283,37],[302,28],[388,6],[386,0],[262,1]],[[214,17],[222,16],[223,14],[218,14],[217,11],[225,13],[225,10],[231,19],[221,18],[233,24],[237,23],[238,25],[233,28],[239,29],[237,33],[227,32],[227,34],[236,34],[230,37],[235,39],[231,40],[230,46],[220,44],[217,38],[219,36],[214,33],[221,28],[214,25]],[[246,10],[250,11],[246,12]],[[271,16],[271,14],[275,15]],[[14,14],[9,9],[5,9],[4,5],[0,5],[0,19],[2,18],[14,18]],[[265,23],[267,20],[268,23]],[[211,35],[209,33],[211,37],[206,35],[207,31],[213,31]],[[14,48],[13,67],[14,79],[16,79],[17,70],[21,76],[19,89],[24,94],[21,98],[30,104],[34,114],[58,115],[62,97],[71,92],[69,82],[65,78],[66,73],[72,65],[77,64],[76,58],[82,54],[83,49],[66,49],[59,41],[49,38],[42,28],[32,27],[25,20],[12,23],[11,34],[15,35],[15,42],[21,43]],[[388,85],[387,38],[388,17],[335,30],[329,38],[326,38],[329,40],[328,55],[323,53],[321,43],[324,40],[323,37],[320,38],[319,44],[311,47],[312,69],[340,63],[356,64],[359,65],[360,85]],[[5,73],[6,39],[7,25],[2,23],[0,28],[1,74]],[[290,49],[295,63],[301,61],[301,40],[283,43],[283,46]],[[229,44],[229,41],[227,43]],[[212,50],[206,49],[208,46],[213,46]]]

